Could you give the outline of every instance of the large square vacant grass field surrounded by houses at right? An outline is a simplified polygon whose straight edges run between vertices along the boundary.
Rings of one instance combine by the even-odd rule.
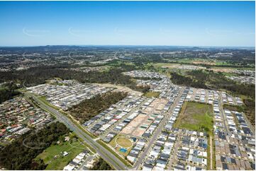
[[[174,127],[213,134],[213,107],[198,102],[184,102]]]

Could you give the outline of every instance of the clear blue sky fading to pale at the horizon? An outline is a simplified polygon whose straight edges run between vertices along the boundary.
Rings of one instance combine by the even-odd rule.
[[[0,1],[0,46],[255,47],[255,1]]]

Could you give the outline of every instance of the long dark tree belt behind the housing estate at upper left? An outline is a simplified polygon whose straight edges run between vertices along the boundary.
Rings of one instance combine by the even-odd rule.
[[[128,66],[128,69],[116,68],[109,71],[90,71],[88,73],[73,71],[60,66],[38,66],[23,71],[1,71],[0,83],[20,81],[25,83],[26,86],[36,86],[45,83],[50,78],[60,77],[62,79],[75,79],[80,83],[120,84],[143,93],[150,89],[148,86],[137,86],[130,76],[122,73],[127,70],[130,70],[130,66]]]

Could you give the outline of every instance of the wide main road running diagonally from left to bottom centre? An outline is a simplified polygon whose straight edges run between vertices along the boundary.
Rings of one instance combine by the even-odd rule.
[[[67,128],[69,128],[70,130],[74,131],[75,134],[77,134],[77,136],[82,138],[85,143],[87,143],[89,146],[91,146],[91,148],[94,148],[94,150],[97,153],[99,153],[99,155],[101,155],[101,158],[103,158],[108,163],[110,163],[116,170],[129,170],[130,169],[129,167],[126,167],[126,165],[124,165],[121,160],[116,158],[115,155],[113,155],[111,152],[106,150],[106,148],[101,146],[101,144],[94,141],[94,139],[91,138],[91,136],[89,136],[84,131],[82,131],[82,129],[79,128],[76,124],[74,124],[68,117],[66,117],[65,114],[62,114],[61,112],[53,109],[52,107],[45,105],[45,103],[41,102],[37,97],[35,97],[35,95],[33,95],[31,93],[25,93],[25,95],[27,95],[28,97],[32,97],[33,100],[38,102],[38,105],[41,108],[54,114],[55,117],[57,117],[57,119],[60,122],[65,124],[67,126]]]

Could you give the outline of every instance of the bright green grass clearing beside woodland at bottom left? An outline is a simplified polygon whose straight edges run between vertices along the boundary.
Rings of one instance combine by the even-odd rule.
[[[43,153],[40,153],[35,160],[40,158],[45,164],[48,164],[45,170],[63,170],[71,160],[85,149],[87,149],[86,146],[80,141],[73,141],[72,143],[66,141],[62,144],[48,147]],[[65,157],[61,154],[61,152],[64,151],[69,153]]]

